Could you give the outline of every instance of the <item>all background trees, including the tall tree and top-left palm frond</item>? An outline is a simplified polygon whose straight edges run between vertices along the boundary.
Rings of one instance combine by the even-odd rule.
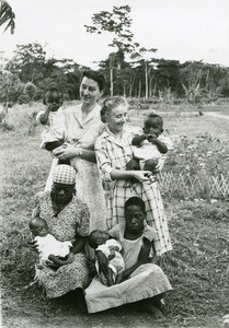
[[[185,98],[192,104],[229,97],[229,68],[203,61],[156,59],[154,48],[146,49],[134,43],[130,31],[130,7],[113,7],[113,11],[93,14],[88,33],[111,33],[114,51],[99,62],[99,71],[106,78],[105,95],[119,94],[146,99],[175,102]],[[14,32],[15,15],[1,0],[0,25]],[[79,97],[79,84],[87,67],[72,59],[47,59],[37,43],[18,45],[10,60],[0,58],[0,102],[30,103],[39,101],[44,91],[57,84],[66,99]]]

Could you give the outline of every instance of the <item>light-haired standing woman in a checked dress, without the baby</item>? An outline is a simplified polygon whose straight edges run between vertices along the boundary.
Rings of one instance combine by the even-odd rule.
[[[171,250],[167,216],[158,183],[150,172],[126,171],[133,157],[131,140],[134,128],[126,126],[128,104],[122,96],[108,97],[101,109],[102,121],[107,122],[105,131],[96,139],[95,152],[99,169],[105,185],[111,185],[107,200],[107,227],[124,222],[125,201],[137,196],[146,203],[147,223],[154,227],[158,256]]]

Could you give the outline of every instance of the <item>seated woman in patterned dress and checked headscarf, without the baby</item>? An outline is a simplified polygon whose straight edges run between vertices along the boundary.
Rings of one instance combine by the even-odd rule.
[[[87,257],[83,254],[89,235],[89,209],[76,196],[76,169],[60,164],[55,167],[51,191],[36,195],[34,218],[46,220],[49,233],[58,241],[70,241],[72,247],[61,265],[47,261],[36,266],[35,279],[48,298],[58,297],[75,289],[85,289],[90,282]]]

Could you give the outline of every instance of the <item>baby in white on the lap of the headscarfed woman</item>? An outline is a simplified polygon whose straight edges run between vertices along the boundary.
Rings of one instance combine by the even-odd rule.
[[[30,230],[37,244],[39,253],[39,263],[51,261],[61,266],[62,260],[70,253],[71,242],[59,242],[48,233],[47,222],[42,218],[35,218],[30,221]]]

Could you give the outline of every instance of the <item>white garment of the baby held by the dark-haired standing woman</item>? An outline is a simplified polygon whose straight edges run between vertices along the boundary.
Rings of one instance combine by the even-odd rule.
[[[39,117],[44,114],[44,110],[39,110],[36,120],[39,121]],[[41,148],[45,149],[46,143],[65,140],[65,115],[62,108],[57,112],[50,112],[48,115],[48,120],[44,125],[44,131],[41,134],[42,143]]]

